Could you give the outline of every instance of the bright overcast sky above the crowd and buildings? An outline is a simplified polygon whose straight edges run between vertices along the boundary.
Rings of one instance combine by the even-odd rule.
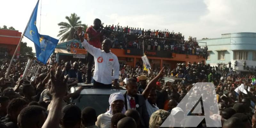
[[[37,0],[2,0],[0,26],[23,32]],[[40,5],[37,28],[40,25]],[[223,33],[256,32],[256,0],[42,0],[41,32],[57,38],[61,21],[76,13],[84,24],[99,18],[105,25],[168,29],[202,39]],[[29,46],[34,44],[24,37]]]

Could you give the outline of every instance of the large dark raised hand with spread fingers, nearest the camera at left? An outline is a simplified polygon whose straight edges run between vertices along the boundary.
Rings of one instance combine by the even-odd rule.
[[[51,69],[52,87],[50,93],[52,98],[63,98],[67,91],[68,75],[64,79],[65,68],[61,71],[60,67],[58,67],[55,76],[53,72],[54,69]]]

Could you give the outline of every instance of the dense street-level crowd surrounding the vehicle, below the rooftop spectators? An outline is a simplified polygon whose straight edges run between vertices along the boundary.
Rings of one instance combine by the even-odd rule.
[[[108,112],[96,116],[94,108],[80,110],[70,103],[70,99],[77,98],[82,88],[75,93],[68,93],[70,86],[78,83],[78,77],[72,75],[77,72],[84,73],[83,64],[62,62],[60,64],[47,65],[41,69],[40,75],[30,83],[20,80],[25,63],[17,62],[12,66],[9,78],[4,79],[6,67],[1,68],[0,97],[1,127],[19,128],[80,128],[80,127],[160,127],[164,120],[172,113],[171,123],[181,123],[181,126],[189,123],[189,120],[179,120],[185,117],[182,109],[177,108],[181,100],[190,91],[194,83],[212,82],[215,85],[220,114],[210,115],[212,120],[221,118],[224,128],[250,128],[255,127],[256,115],[255,102],[256,91],[252,79],[253,75],[242,75],[230,70],[230,68],[211,67],[198,63],[180,63],[177,68],[151,69],[150,74],[137,64],[136,68],[120,64],[120,87],[126,88],[126,94],[135,97],[135,103],[130,100],[130,108],[126,108],[127,100],[123,94],[110,95]],[[75,74],[79,74],[79,73]],[[182,78],[178,83],[163,83],[163,76]],[[73,77],[73,78],[71,78]],[[79,76],[80,77],[80,76]],[[83,77],[83,76],[82,76]],[[83,80],[83,78],[82,78]],[[84,82],[84,80],[83,80]],[[235,89],[244,84],[246,94],[236,92]],[[202,87],[209,89],[208,86]],[[248,89],[249,88],[249,89]],[[191,98],[196,95],[211,95],[210,90],[204,92],[195,89]],[[143,107],[137,109],[138,99]],[[86,101],[84,101],[86,102]],[[183,103],[190,106],[192,103]],[[134,107],[132,109],[132,106]],[[213,109],[210,107],[207,107]],[[205,108],[204,108],[205,109]],[[125,111],[126,110],[126,111]],[[200,115],[200,114],[198,114]],[[175,120],[176,119],[176,120]],[[206,127],[202,121],[198,127]]]

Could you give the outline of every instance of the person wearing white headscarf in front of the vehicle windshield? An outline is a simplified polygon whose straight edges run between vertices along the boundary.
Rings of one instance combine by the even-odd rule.
[[[100,114],[97,118],[96,125],[99,128],[110,128],[112,116],[116,113],[125,113],[124,95],[121,92],[111,94],[108,102],[110,105],[109,110],[104,114]]]

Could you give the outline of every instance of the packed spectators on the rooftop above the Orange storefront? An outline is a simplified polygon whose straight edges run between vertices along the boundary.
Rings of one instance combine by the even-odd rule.
[[[137,36],[146,35],[148,38],[144,40],[145,50],[154,51],[171,51],[179,54],[201,55],[207,58],[207,46],[200,47],[196,41],[196,37],[189,36],[188,40],[184,40],[184,36],[179,33],[169,32],[167,30],[141,30],[141,28],[131,28],[122,26],[104,27],[105,37],[112,41],[112,48],[127,49],[136,48],[142,49],[142,39]],[[136,36],[134,38],[133,36]]]

